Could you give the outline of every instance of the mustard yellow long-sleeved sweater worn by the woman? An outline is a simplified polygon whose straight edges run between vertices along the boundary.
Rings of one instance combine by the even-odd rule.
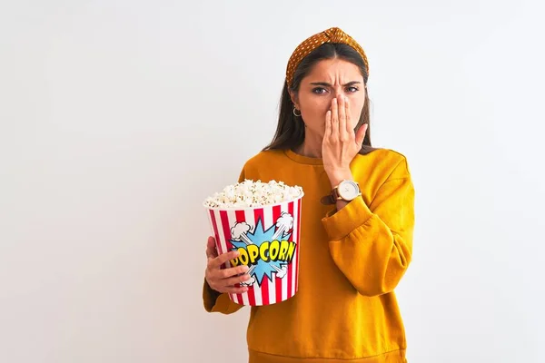
[[[299,290],[253,307],[250,363],[406,362],[405,332],[393,292],[411,262],[414,190],[403,155],[378,149],[353,160],[362,197],[341,211],[320,199],[331,191],[322,160],[292,151],[260,152],[241,180],[301,185]],[[242,306],[204,283],[204,307]]]

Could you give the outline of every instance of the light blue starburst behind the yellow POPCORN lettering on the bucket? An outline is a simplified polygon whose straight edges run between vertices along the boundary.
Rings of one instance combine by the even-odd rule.
[[[275,235],[275,229],[274,225],[272,225],[271,228],[268,230],[263,229],[263,222],[261,219],[259,219],[255,225],[255,228],[253,231],[244,231],[244,239],[231,239],[231,243],[233,243],[233,250],[237,250],[239,248],[246,248],[248,245],[248,242],[251,242],[252,244],[256,245],[258,248],[262,245],[263,242],[271,242],[272,240],[279,239],[279,240],[289,240],[292,236],[292,233],[285,233],[283,231],[280,231],[280,236]],[[248,226],[249,228],[249,226]],[[278,234],[278,231],[276,232]],[[244,240],[247,240],[246,242]],[[276,273],[277,277],[281,276],[281,271],[284,271],[285,273],[285,265],[287,265],[287,262],[282,260],[272,261],[269,260],[267,262],[263,260],[258,260],[257,264],[253,267],[252,277],[255,279],[255,281],[259,284],[259,286],[262,285],[263,280],[268,278],[272,281],[272,273]],[[283,269],[282,269],[283,267]]]

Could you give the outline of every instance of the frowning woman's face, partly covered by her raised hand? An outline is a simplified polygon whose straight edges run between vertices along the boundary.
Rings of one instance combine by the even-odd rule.
[[[318,62],[301,82],[299,93],[292,94],[292,102],[307,126],[306,132],[323,137],[325,113],[332,105],[332,99],[346,96],[350,105],[350,117],[355,125],[360,120],[365,103],[363,76],[357,65],[340,58]]]

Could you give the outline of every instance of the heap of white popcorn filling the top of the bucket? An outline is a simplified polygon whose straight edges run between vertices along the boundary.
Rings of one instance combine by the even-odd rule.
[[[213,196],[206,198],[204,206],[208,208],[254,208],[265,205],[293,201],[302,195],[300,186],[289,186],[284,182],[253,182],[246,179],[223,188]]]

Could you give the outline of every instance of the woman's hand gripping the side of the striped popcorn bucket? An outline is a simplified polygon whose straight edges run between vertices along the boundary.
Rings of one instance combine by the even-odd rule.
[[[246,287],[236,288],[234,286],[237,283],[250,279],[250,275],[246,273],[249,270],[248,266],[243,265],[230,269],[221,269],[223,263],[228,260],[236,259],[238,256],[239,252],[236,250],[218,256],[214,238],[212,236],[208,237],[208,244],[206,246],[206,258],[208,259],[208,263],[206,265],[204,277],[212,289],[221,293],[229,292],[232,294],[240,294],[248,290]]]

